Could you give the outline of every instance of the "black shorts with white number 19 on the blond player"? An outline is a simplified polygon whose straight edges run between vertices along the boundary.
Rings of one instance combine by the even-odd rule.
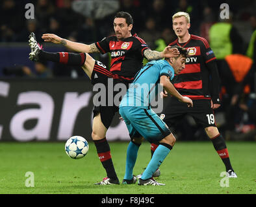
[[[211,100],[208,99],[193,100],[193,107],[187,107],[186,103],[179,102],[177,98],[172,97],[160,114],[160,118],[166,122],[168,127],[173,127],[175,123],[182,121],[186,115],[192,116],[196,124],[203,128],[216,127]]]

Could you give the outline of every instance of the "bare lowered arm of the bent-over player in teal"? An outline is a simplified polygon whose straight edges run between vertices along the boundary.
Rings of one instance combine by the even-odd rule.
[[[164,90],[167,91],[167,93],[177,98],[180,102],[186,103],[188,107],[193,107],[192,100],[186,96],[181,96],[181,94],[175,89],[174,85],[170,82],[167,76],[161,76],[160,83],[164,87]]]

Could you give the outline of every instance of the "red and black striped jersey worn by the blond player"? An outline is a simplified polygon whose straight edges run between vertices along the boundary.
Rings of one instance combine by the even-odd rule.
[[[191,34],[186,43],[179,43],[176,39],[170,43],[170,46],[173,45],[184,47],[189,54],[189,58],[186,58],[185,69],[175,75],[172,80],[177,91],[191,99],[210,99],[210,71],[207,63],[216,58],[207,40]]]

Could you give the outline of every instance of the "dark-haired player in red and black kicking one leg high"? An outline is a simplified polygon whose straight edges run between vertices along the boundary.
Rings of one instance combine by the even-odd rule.
[[[136,34],[131,34],[133,17],[127,12],[118,12],[114,17],[113,26],[115,32],[114,36],[104,38],[90,45],[68,41],[55,34],[43,34],[42,39],[44,39],[44,41],[65,45],[71,50],[80,52],[79,54],[71,52],[45,52],[38,46],[34,34],[31,34],[29,38],[29,45],[31,47],[30,59],[33,61],[47,60],[67,65],[77,65],[84,69],[87,63],[86,56],[87,58],[89,57],[88,59],[91,59],[87,53],[101,52],[104,54],[110,52],[112,58],[110,70],[100,61],[90,61],[94,63],[92,72],[88,72],[90,70],[84,69],[86,74],[91,78],[92,84],[103,83],[108,93],[110,90],[108,88],[108,78],[113,80],[113,88],[118,83],[124,83],[127,87],[129,83],[133,82],[133,77],[136,72],[141,69],[144,57],[147,58],[147,60],[159,60],[179,55],[177,49],[170,49],[170,47],[166,47],[162,52],[150,50],[143,39],[136,36]],[[88,63],[87,65],[91,64]],[[112,93],[113,92],[112,89]],[[119,91],[114,92],[112,98],[114,98],[117,93],[119,93]],[[106,98],[108,97],[106,96]],[[103,181],[96,183],[100,185],[120,184],[112,163],[110,146],[106,139],[107,129],[112,122],[114,114],[118,111],[119,104],[114,104],[113,100],[110,102],[112,102],[112,105],[94,106],[92,139],[94,140],[99,160],[107,172],[107,177],[105,177]],[[109,103],[109,101],[107,100],[106,103]]]

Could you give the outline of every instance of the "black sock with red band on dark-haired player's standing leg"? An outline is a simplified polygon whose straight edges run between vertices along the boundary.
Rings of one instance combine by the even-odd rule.
[[[103,138],[101,140],[94,140],[94,144],[97,149],[99,160],[101,160],[101,164],[107,172],[107,177],[114,180],[118,179],[112,162],[110,147],[107,139]]]

